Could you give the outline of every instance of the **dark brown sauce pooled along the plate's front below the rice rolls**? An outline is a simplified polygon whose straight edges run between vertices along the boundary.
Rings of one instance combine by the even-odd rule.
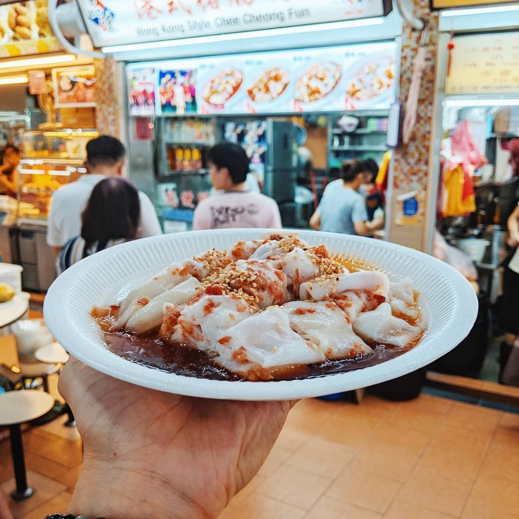
[[[157,334],[131,335],[127,332],[104,334],[108,349],[120,357],[157,370],[184,375],[186,377],[209,378],[211,380],[244,380],[231,373],[204,352],[183,344],[171,344]],[[285,370],[274,373],[273,380],[296,380],[322,377],[348,371],[360,370],[386,362],[405,353],[406,349],[389,348],[379,344],[369,344],[375,353],[357,360],[327,360],[321,364],[286,366]]]

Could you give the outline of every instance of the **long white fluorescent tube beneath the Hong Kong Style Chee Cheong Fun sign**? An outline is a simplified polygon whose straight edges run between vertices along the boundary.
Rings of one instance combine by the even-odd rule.
[[[160,49],[162,47],[184,47],[201,43],[220,43],[240,40],[248,37],[271,38],[272,36],[284,36],[286,34],[301,34],[316,30],[333,31],[337,29],[351,29],[353,27],[366,27],[368,25],[381,25],[384,17],[361,18],[359,20],[344,20],[342,22],[312,23],[310,25],[296,25],[294,27],[279,27],[262,31],[244,31],[230,34],[211,34],[209,36],[194,36],[192,38],[168,39],[160,42],[129,43],[125,45],[109,45],[102,47],[105,53],[128,52],[132,50]]]

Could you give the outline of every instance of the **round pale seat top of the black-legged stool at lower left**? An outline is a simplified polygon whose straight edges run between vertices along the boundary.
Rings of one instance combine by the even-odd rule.
[[[23,424],[48,413],[54,398],[45,391],[23,389],[0,394],[0,425]]]

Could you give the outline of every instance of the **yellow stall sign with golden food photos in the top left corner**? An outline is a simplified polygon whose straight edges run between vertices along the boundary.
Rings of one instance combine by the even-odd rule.
[[[47,0],[0,5],[0,58],[61,50],[47,17]]]

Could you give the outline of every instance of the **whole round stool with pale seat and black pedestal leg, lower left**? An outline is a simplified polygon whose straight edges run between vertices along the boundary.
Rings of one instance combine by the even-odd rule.
[[[54,399],[44,391],[29,389],[0,394],[0,426],[9,426],[11,433],[12,464],[16,480],[16,488],[12,491],[11,497],[16,501],[27,499],[34,492],[27,485],[20,425],[48,413],[53,405]]]

